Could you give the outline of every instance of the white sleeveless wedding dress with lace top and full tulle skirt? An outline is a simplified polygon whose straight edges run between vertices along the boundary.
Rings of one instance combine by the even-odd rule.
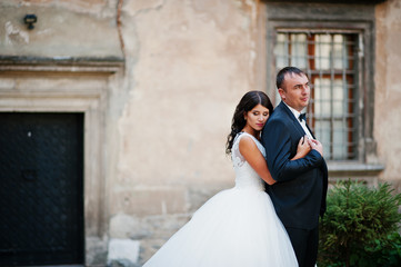
[[[235,187],[220,191],[199,208],[143,267],[293,267],[294,251],[263,181],[232,147]]]

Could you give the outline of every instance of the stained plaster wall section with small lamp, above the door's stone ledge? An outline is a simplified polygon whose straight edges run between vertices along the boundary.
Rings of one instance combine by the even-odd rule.
[[[119,57],[117,1],[1,1],[1,56]],[[38,21],[28,30],[27,13]]]

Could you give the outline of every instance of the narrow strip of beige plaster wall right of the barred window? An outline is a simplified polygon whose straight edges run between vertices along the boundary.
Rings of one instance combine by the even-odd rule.
[[[400,184],[401,0],[378,4],[375,16],[374,137],[385,166],[380,178]]]

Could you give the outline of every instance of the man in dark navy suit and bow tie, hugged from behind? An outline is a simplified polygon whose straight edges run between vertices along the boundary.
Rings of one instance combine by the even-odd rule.
[[[277,180],[267,186],[267,192],[290,236],[299,266],[313,267],[318,256],[319,215],[325,211],[328,169],[322,145],[301,115],[310,99],[308,77],[298,68],[285,67],[277,76],[277,87],[281,102],[262,131],[269,170]],[[304,136],[310,152],[290,160]]]

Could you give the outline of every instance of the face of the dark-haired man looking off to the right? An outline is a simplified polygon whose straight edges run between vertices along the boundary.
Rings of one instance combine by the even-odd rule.
[[[287,73],[281,88],[279,88],[279,93],[288,106],[301,112],[308,106],[311,93],[308,77]]]

